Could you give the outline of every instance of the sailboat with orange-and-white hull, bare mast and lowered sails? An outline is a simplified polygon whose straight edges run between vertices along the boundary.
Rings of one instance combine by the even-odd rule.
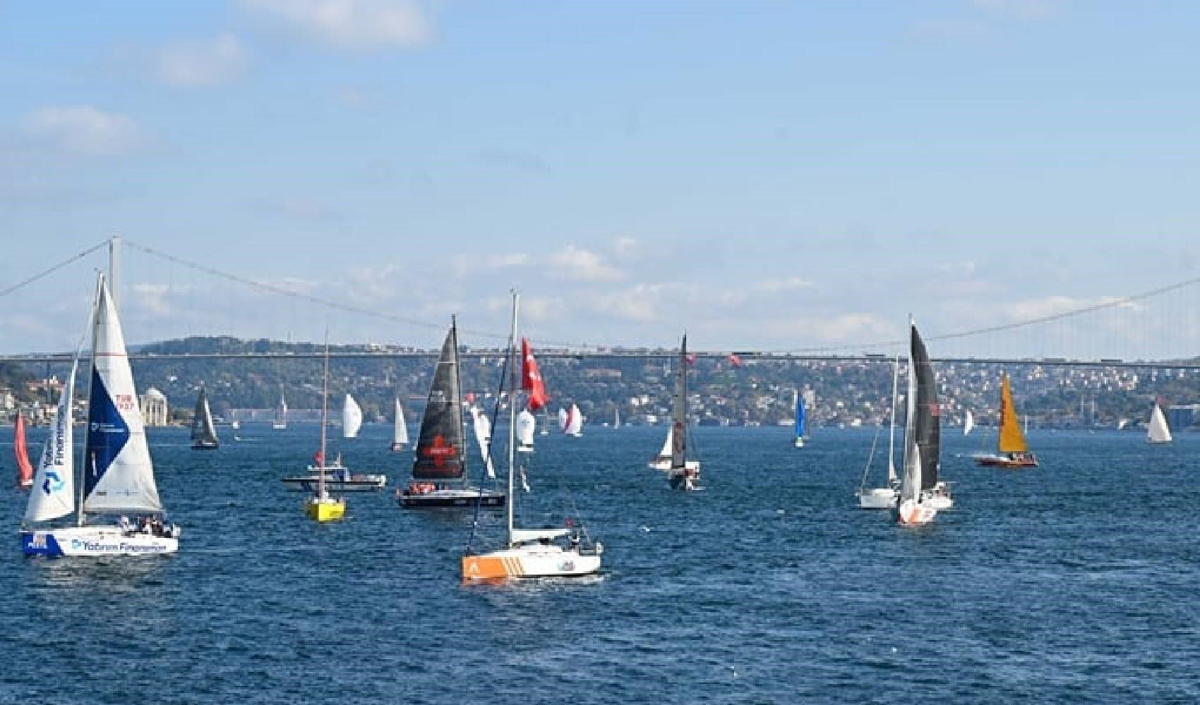
[[[518,295],[512,294],[512,333],[509,343],[510,363],[516,367]],[[526,355],[528,360],[529,355]],[[515,376],[515,369],[510,373]],[[528,379],[526,375],[523,378]],[[514,380],[515,381],[515,380]],[[512,385],[516,386],[515,384]],[[515,390],[514,390],[515,391]],[[514,489],[516,469],[516,404],[509,404],[509,494]],[[462,556],[463,582],[498,582],[510,578],[566,578],[589,576],[600,570],[604,546],[596,541],[583,546],[581,534],[571,523],[565,528],[518,529],[508,507],[508,542],[493,552],[472,553],[468,544]]]

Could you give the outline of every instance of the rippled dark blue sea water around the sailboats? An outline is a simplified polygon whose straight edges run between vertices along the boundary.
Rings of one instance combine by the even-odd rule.
[[[856,508],[874,429],[700,428],[690,494],[646,466],[661,428],[539,436],[526,520],[574,502],[604,573],[464,586],[470,513],[352,494],[318,525],[280,482],[314,427],[221,432],[150,430],[174,556],[24,559],[2,493],[0,701],[1200,701],[1200,434],[1033,432],[1006,471],[948,432],[958,506],[917,530]],[[337,445],[395,486],[389,435]]]

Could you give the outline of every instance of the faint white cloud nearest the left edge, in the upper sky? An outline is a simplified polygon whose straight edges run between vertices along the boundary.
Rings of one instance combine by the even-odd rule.
[[[122,155],[143,141],[133,120],[91,106],[35,110],[22,119],[20,129],[64,152],[86,157]]]

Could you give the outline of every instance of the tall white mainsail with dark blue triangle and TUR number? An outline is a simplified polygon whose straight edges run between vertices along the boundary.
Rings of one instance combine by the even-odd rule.
[[[95,317],[80,511],[162,513],[125,336],[103,277]]]

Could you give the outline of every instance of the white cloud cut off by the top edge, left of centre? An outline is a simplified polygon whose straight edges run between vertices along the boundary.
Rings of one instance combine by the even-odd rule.
[[[241,0],[244,7],[326,44],[352,49],[413,47],[432,29],[409,0]]]

